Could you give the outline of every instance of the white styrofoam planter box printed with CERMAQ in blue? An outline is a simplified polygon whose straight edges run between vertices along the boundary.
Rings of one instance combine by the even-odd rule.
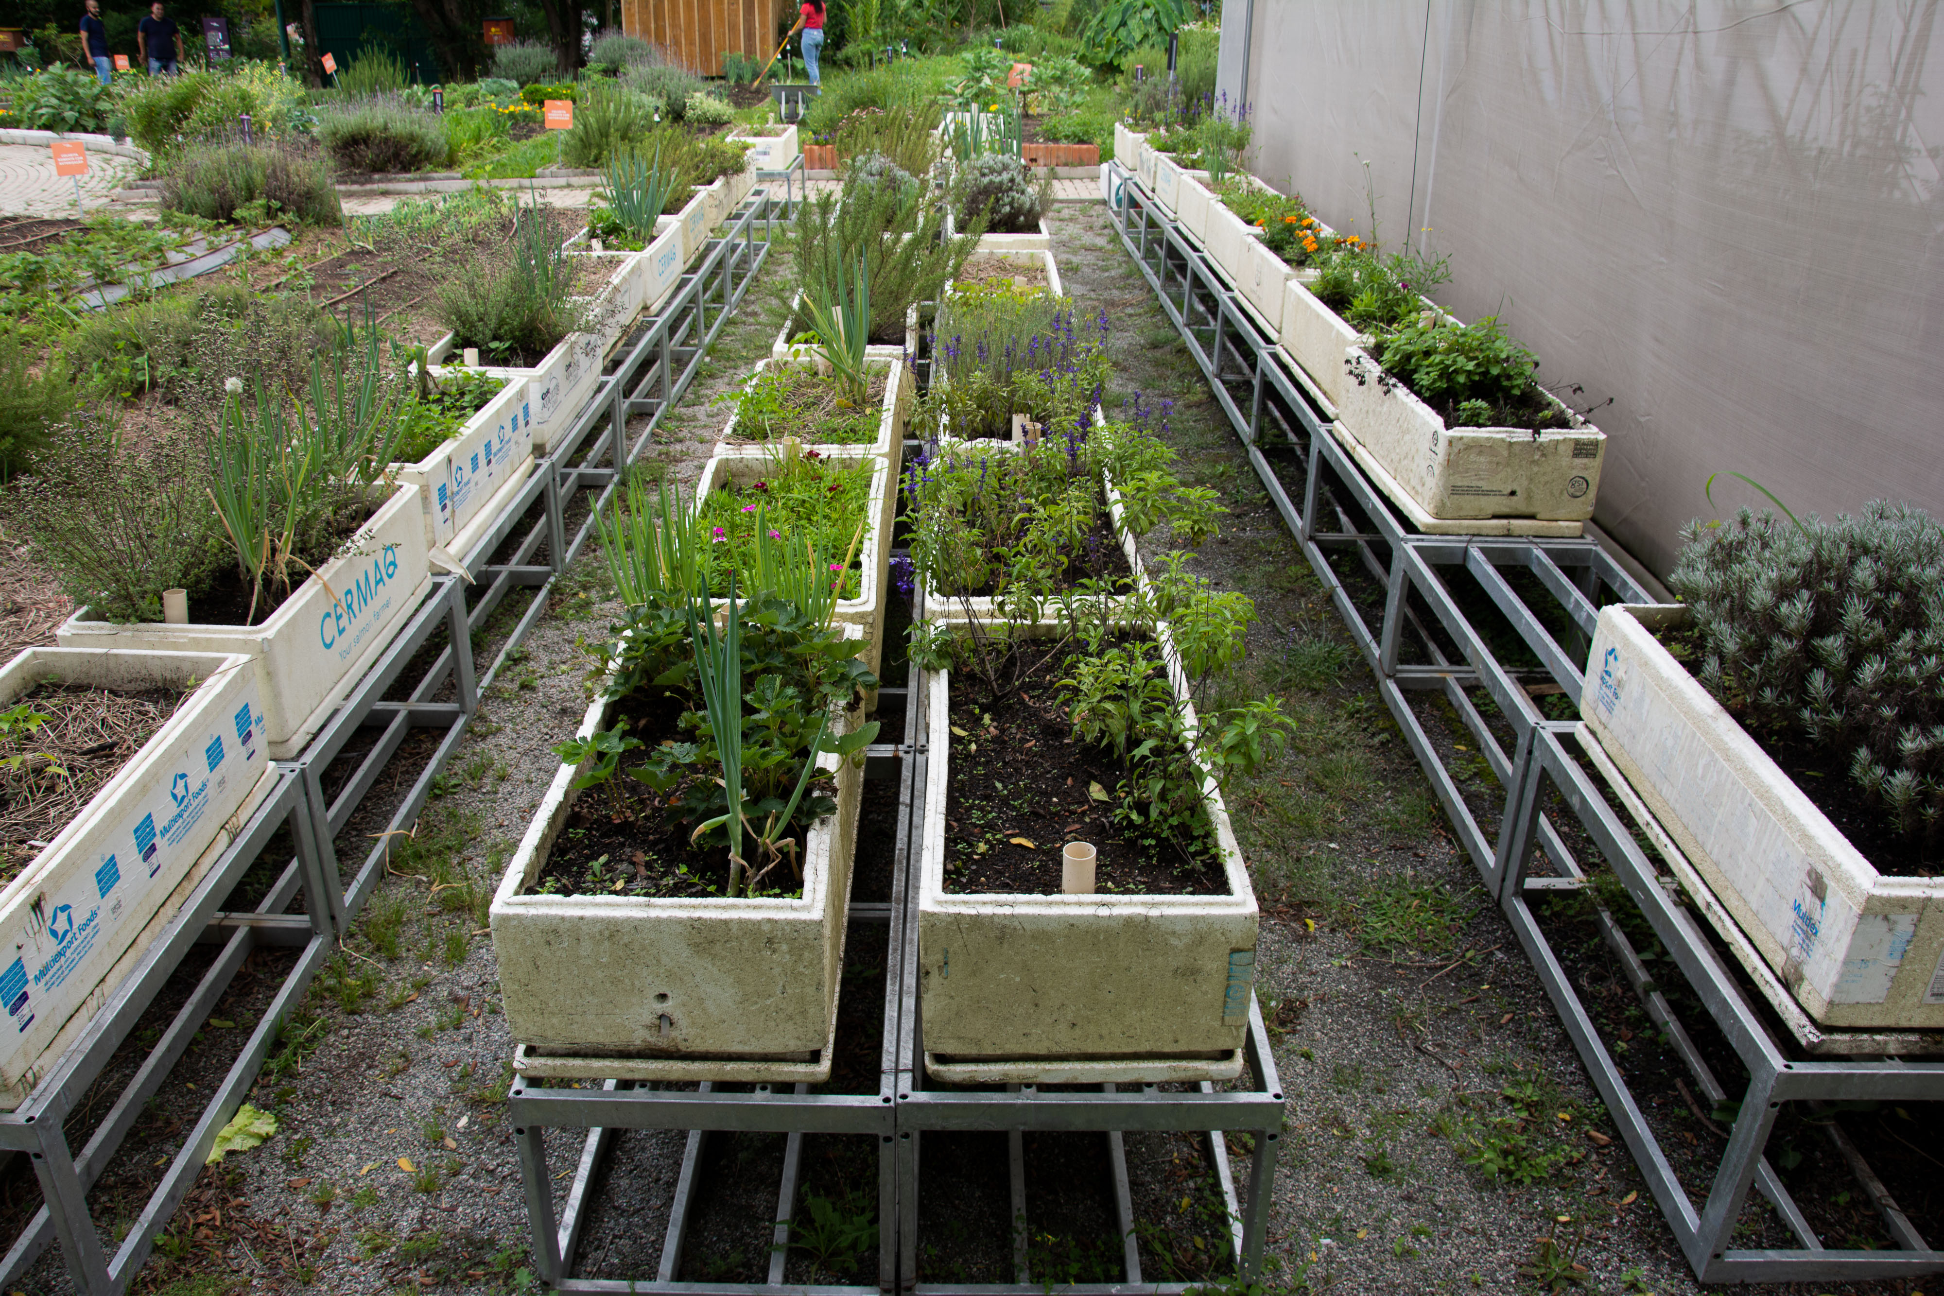
[[[288,760],[323,729],[391,645],[432,583],[426,519],[416,486],[399,486],[332,558],[257,626],[121,626],[78,608],[56,631],[60,647],[243,653],[264,713],[264,744]],[[196,608],[191,602],[191,616]]]

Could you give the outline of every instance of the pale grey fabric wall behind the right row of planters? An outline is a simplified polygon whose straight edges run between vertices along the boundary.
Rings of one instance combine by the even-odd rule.
[[[1717,470],[1944,517],[1936,27],[1936,0],[1229,0],[1221,74],[1264,181],[1363,235],[1374,194],[1386,247],[1450,256],[1444,305],[1614,400],[1596,521],[1666,573],[1684,523],[1765,503],[1711,507]]]

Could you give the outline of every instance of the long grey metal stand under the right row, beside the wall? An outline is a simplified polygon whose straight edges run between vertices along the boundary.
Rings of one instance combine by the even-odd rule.
[[[1427,536],[1402,525],[1334,435],[1326,416],[1328,402],[1301,369],[1281,358],[1275,338],[1194,239],[1118,165],[1110,173],[1110,214],[1124,245],[1215,389],[1215,398],[1242,439],[1269,499],[1376,672],[1378,694],[1431,779],[1458,841],[1472,855],[1540,972],[1594,1088],[1647,1176],[1695,1277],[1703,1282],[1804,1282],[1944,1271],[1944,1251],[1932,1249],[1917,1234],[1835,1123],[1825,1129],[1857,1183],[1884,1216],[1884,1226],[1899,1247],[1895,1251],[1825,1247],[1763,1156],[1781,1104],[1938,1102],[1944,1100],[1944,1065],[1884,1057],[1882,1041],[1870,1036],[1855,1036],[1851,1047],[1858,1055],[1878,1053],[1876,1057],[1823,1061],[1820,1055],[1845,1047],[1843,1040],[1816,1032],[1779,981],[1767,985],[1773,973],[1759,966],[1759,958],[1742,958],[1742,975],[1724,964],[1687,907],[1691,902],[1707,911],[1718,902],[1705,894],[1672,837],[1652,822],[1645,804],[1577,721],[1547,719],[1536,705],[1536,696],[1559,694],[1577,709],[1584,688],[1579,663],[1586,657],[1604,602],[1654,598],[1612,554],[1588,540]],[[1283,453],[1283,447],[1302,464],[1301,509],[1266,457],[1266,449]],[[1472,614],[1454,589],[1460,577],[1472,583]],[[1374,626],[1353,587],[1367,593],[1382,589],[1382,616]],[[1475,624],[1477,616],[1495,618],[1489,633]],[[1501,663],[1512,649],[1530,661],[1522,666]],[[1423,692],[1442,694],[1493,777],[1507,789],[1509,812],[1495,834],[1466,804],[1439,744],[1407,698]],[[1487,723],[1474,699],[1475,692],[1495,703],[1503,729]],[[1512,752],[1501,742],[1503,734],[1510,736]],[[1567,847],[1561,824],[1542,812],[1551,793],[1559,795],[1565,812],[1625,884],[1627,896],[1672,954],[1713,1028],[1750,1073],[1728,1146],[1699,1211],[1682,1189],[1534,913],[1534,900],[1586,886],[1586,872]],[[1614,801],[1627,808],[1625,818],[1614,808]],[[1687,882],[1685,894],[1641,849],[1635,828],[1654,841],[1660,857]],[[1545,861],[1544,869],[1540,861]],[[1703,1098],[1730,1098],[1674,1016],[1666,995],[1647,975],[1619,923],[1606,907],[1596,905],[1596,913],[1602,937],[1649,1016],[1672,1040]],[[1722,915],[1717,915],[1715,925],[1732,927]],[[1763,991],[1767,1005],[1750,999],[1750,981]],[[1812,1049],[1818,1057],[1810,1055]],[[1750,1185],[1773,1203],[1802,1244],[1798,1249],[1730,1245]]]

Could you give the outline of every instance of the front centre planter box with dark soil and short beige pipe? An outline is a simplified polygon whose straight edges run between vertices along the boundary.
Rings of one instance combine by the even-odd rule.
[[[1168,682],[1180,698],[1186,684],[1161,633]],[[1026,758],[1028,742],[1034,750],[1063,748],[1056,731],[1067,725],[1058,709],[1048,709],[1046,698],[999,703],[986,698],[984,682],[966,684],[966,674],[925,674],[933,734],[918,902],[925,1071],[955,1084],[1238,1074],[1258,911],[1219,791],[1203,783],[1213,843],[1205,874],[1157,872],[1153,859],[1141,859],[1143,847],[1094,810],[1100,797],[1091,785],[1098,779],[1083,781],[1069,769],[1081,756]],[[964,699],[955,703],[955,692]],[[956,777],[955,766],[980,762],[980,750],[999,766],[974,764],[970,781]],[[1011,795],[1013,804],[988,804],[988,787],[1001,799]],[[1019,828],[1011,822],[988,822],[1023,814],[1021,806],[1036,808],[1048,841],[1007,832]],[[1116,890],[1046,894],[1059,876],[1065,839],[1104,847],[1098,876]],[[978,863],[984,859],[993,863]],[[984,890],[982,869],[1007,890]],[[1168,890],[1149,890],[1159,878]],[[1122,884],[1129,890],[1118,890]]]

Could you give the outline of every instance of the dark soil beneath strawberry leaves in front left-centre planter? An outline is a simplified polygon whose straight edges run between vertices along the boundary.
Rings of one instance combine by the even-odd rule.
[[[729,888],[729,851],[723,847],[690,847],[694,824],[663,814],[655,793],[628,777],[626,769],[642,764],[642,752],[663,740],[692,740],[678,729],[680,711],[667,699],[624,698],[612,719],[626,721],[626,733],[643,746],[622,756],[622,771],[601,787],[581,791],[568,810],[560,837],[540,867],[529,896],[655,896],[706,900],[723,896]],[[811,779],[803,793],[834,797],[828,775]],[[797,839],[801,867],[809,828],[801,824],[791,834]],[[750,843],[745,836],[745,857]],[[616,886],[620,882],[620,886]],[[760,886],[762,896],[799,896],[803,880],[787,863],[776,867]]]

